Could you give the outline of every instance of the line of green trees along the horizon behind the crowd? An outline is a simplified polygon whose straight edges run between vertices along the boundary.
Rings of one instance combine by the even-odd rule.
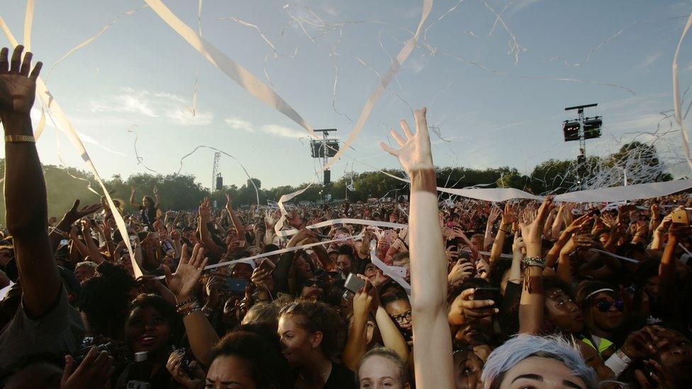
[[[437,186],[465,188],[478,184],[490,184],[484,187],[518,188],[531,193],[564,193],[574,189],[580,182],[601,182],[594,181],[598,179],[596,175],[603,175],[603,171],[619,171],[613,169],[614,167],[623,167],[630,171],[630,184],[673,179],[659,161],[654,146],[631,142],[621,147],[618,152],[606,157],[589,157],[582,164],[577,164],[574,160],[549,159],[538,164],[529,175],[521,174],[518,169],[510,167],[496,169],[439,167],[437,168]],[[0,169],[4,171],[4,159],[0,159]],[[401,170],[386,171],[394,176],[402,178],[405,176]],[[51,216],[60,217],[72,205],[75,198],[79,198],[82,204],[99,201],[100,195],[89,191],[88,187],[91,186],[99,193],[100,187],[93,176],[86,171],[72,167],[43,165],[43,174],[48,188],[48,212]],[[267,201],[278,201],[281,195],[307,186],[307,184],[300,184],[262,188],[262,181],[259,179],[253,179],[253,181],[258,193],[255,192],[255,186],[249,180],[241,186],[232,184],[224,186],[220,191],[211,191],[196,182],[195,176],[177,174],[138,173],[127,179],[116,175],[105,181],[105,184],[113,198],[119,198],[125,202],[125,212],[134,210],[129,203],[131,187],[135,188],[137,203],[142,201],[143,196],[151,195],[153,188],[157,187],[163,210],[192,210],[199,205],[199,201],[204,196],[209,196],[212,201],[216,201],[219,207],[225,204],[225,193],[230,194],[235,205],[245,206],[257,203],[257,194],[259,194],[259,203],[267,204]],[[605,186],[621,184],[619,179],[603,182]],[[366,171],[343,176],[327,186],[313,184],[294,201],[319,201],[330,195],[333,201],[347,197],[349,201],[355,202],[367,201],[368,198],[395,198],[406,194],[408,194],[408,184],[405,182],[382,174],[380,171]],[[4,213],[3,201],[0,205],[0,220],[4,220]]]

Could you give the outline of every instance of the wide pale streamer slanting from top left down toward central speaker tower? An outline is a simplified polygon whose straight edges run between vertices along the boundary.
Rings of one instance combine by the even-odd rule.
[[[311,125],[309,125],[306,120],[304,120],[301,115],[299,115],[289,103],[286,103],[281,96],[274,92],[267,84],[259,81],[257,77],[252,75],[245,67],[240,66],[238,62],[230,59],[227,55],[223,54],[221,50],[215,45],[209,43],[206,39],[195,33],[189,26],[187,26],[183,21],[181,21],[174,13],[165,6],[161,0],[144,0],[147,4],[154,10],[160,18],[168,26],[170,26],[176,33],[178,33],[184,40],[187,41],[195,50],[197,50],[203,57],[205,57],[211,64],[218,67],[221,72],[226,74],[230,79],[233,79],[238,85],[242,86],[243,89],[250,92],[252,96],[259,98],[259,100],[267,103],[268,106],[276,109],[277,111],[286,115],[289,119],[298,123],[302,128],[305,128],[315,139],[318,139],[318,135],[313,131]]]

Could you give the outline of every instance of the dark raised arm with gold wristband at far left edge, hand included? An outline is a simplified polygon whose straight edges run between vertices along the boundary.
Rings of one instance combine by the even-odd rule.
[[[41,69],[36,64],[29,75],[31,53],[24,61],[24,47],[12,54],[0,51],[0,120],[5,130],[6,225],[14,250],[27,313],[40,316],[55,303],[60,293],[60,275],[48,239],[48,204],[43,169],[33,140],[29,112],[36,94],[35,80]]]

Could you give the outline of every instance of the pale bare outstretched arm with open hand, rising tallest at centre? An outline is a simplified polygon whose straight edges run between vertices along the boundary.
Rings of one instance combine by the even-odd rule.
[[[401,147],[380,146],[398,158],[411,177],[411,308],[413,346],[416,354],[415,383],[418,388],[454,388],[452,336],[447,324],[447,263],[442,244],[442,229],[437,219],[435,168],[430,152],[430,135],[425,108],[415,111],[415,134],[401,120],[406,139],[396,131],[391,135]]]

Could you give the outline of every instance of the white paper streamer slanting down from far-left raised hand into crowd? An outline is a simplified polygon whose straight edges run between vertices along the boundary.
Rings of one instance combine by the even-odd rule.
[[[2,30],[4,31],[5,36],[10,41],[12,47],[16,47],[18,45],[17,40],[14,38],[14,35],[12,35],[10,29],[7,27],[7,24],[5,23],[2,17],[0,17],[0,28],[2,28]],[[57,101],[55,101],[55,98],[53,98],[52,94],[50,94],[50,91],[48,91],[48,88],[45,86],[45,83],[43,82],[43,79],[41,79],[41,77],[38,77],[38,79],[36,80],[36,94],[38,94],[39,98],[41,98],[45,105],[48,106],[48,109],[52,112],[52,114],[55,115],[60,129],[65,133],[65,135],[67,135],[67,138],[70,142],[72,142],[72,146],[74,146],[74,149],[77,150],[82,159],[84,159],[86,167],[89,167],[91,174],[94,174],[94,178],[96,179],[96,181],[99,182],[99,185],[101,185],[101,189],[104,191],[104,196],[106,196],[106,201],[108,201],[108,206],[111,208],[111,211],[113,213],[113,218],[116,220],[118,231],[121,232],[121,235],[123,235],[123,237],[128,236],[128,229],[125,226],[125,220],[123,220],[123,217],[118,212],[118,208],[116,207],[116,205],[113,204],[113,199],[111,198],[111,195],[108,193],[108,190],[104,185],[104,181],[101,180],[101,176],[99,175],[99,171],[96,170],[94,162],[91,162],[91,158],[89,157],[89,153],[87,153],[86,149],[84,148],[82,139],[77,134],[77,131],[74,130],[72,124],[69,123],[67,115],[65,115],[65,112],[62,111],[60,105],[58,105]],[[135,273],[135,278],[138,278],[142,276],[143,273],[140,269],[140,266],[135,261],[135,254],[133,253],[132,247],[130,246],[130,240],[123,239],[123,242],[125,242],[125,247],[127,247],[128,253],[130,254],[130,263],[132,264],[132,268]]]

